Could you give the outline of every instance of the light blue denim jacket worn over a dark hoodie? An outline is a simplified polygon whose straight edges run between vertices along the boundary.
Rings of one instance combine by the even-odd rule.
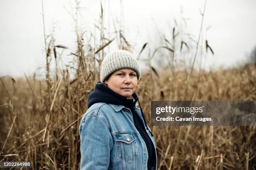
[[[135,112],[142,120],[136,106]],[[144,127],[156,152],[151,129]],[[147,170],[146,144],[133,124],[131,110],[123,105],[93,104],[82,117],[79,135],[81,170]]]

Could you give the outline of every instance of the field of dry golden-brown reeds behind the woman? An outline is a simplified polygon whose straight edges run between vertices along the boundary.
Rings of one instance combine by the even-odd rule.
[[[102,12],[101,12],[102,13]],[[101,18],[102,19],[102,18]],[[74,19],[76,20],[76,19]],[[57,59],[67,47],[45,35],[45,76],[24,75],[0,79],[0,161],[31,161],[32,169],[79,169],[79,123],[87,110],[89,93],[100,80],[100,64],[113,41],[118,49],[132,48],[122,30],[105,38],[99,24],[99,44],[77,32],[72,65],[59,67]],[[176,35],[173,29],[173,45]],[[167,40],[166,40],[167,41]],[[170,41],[170,40],[169,40]],[[169,43],[172,44],[172,43]],[[198,43],[197,43],[198,44]],[[174,64],[180,47],[159,45],[168,51],[168,65],[156,70],[153,53],[141,45],[148,70],[136,93],[150,125],[151,100],[255,101],[256,65],[205,71],[194,63],[185,70]],[[198,48],[198,47],[195,47]],[[52,67],[54,66],[54,67]],[[151,126],[157,145],[159,170],[255,170],[255,126]]]

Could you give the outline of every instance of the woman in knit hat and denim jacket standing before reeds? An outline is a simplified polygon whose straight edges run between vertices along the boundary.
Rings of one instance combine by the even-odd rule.
[[[80,169],[156,170],[156,143],[140,104],[136,107],[138,61],[130,52],[116,50],[101,68],[79,126]]]

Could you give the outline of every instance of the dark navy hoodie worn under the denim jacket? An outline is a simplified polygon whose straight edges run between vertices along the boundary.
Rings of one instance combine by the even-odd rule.
[[[134,111],[133,107],[135,107],[135,104],[138,101],[138,96],[136,95],[136,93],[133,93],[132,96],[135,99],[135,101],[133,101],[133,99],[127,99],[126,97],[123,97],[122,95],[119,95],[118,93],[114,92],[103,83],[97,82],[95,86],[95,90],[93,90],[89,94],[87,106],[89,108],[90,106],[92,106],[97,102],[105,102],[113,105],[123,105],[129,108],[133,115],[134,126],[136,127],[142,139],[146,143],[146,147],[148,150],[148,164],[147,164],[148,170],[151,170],[151,169],[153,170],[156,167],[156,153],[155,153],[154,144],[149,138],[140,117]],[[140,102],[139,102],[139,105],[140,105]],[[141,108],[141,105],[140,105],[140,108]],[[141,109],[141,114],[143,117],[144,124],[146,125],[146,120],[142,112],[142,109]],[[153,136],[152,133],[151,135]]]

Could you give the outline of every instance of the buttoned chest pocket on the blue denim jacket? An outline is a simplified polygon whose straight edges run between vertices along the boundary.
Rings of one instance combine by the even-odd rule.
[[[138,147],[134,134],[122,133],[116,135],[116,149],[118,158],[125,162],[132,162],[138,155]]]

